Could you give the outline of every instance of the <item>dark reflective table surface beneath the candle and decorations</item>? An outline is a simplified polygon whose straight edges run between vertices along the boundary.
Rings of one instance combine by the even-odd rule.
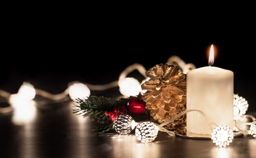
[[[95,122],[72,114],[72,101],[37,106],[34,120],[23,125],[15,125],[13,116],[0,116],[0,158],[256,158],[256,139],[249,136],[219,148],[211,140],[162,132],[148,144],[134,131],[96,135]]]

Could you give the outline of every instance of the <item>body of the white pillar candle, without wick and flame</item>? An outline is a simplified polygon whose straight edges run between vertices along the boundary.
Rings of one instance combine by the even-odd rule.
[[[233,129],[234,73],[218,67],[202,67],[187,73],[187,109],[203,111],[210,122]],[[202,114],[187,113],[187,132],[211,134]]]

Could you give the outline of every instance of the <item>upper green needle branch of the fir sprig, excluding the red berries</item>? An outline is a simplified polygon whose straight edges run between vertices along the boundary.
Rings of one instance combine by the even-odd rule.
[[[76,115],[89,117],[91,120],[99,123],[108,123],[109,116],[104,114],[105,111],[112,111],[115,106],[127,107],[128,99],[121,98],[114,100],[112,98],[90,96],[87,99],[76,99],[74,104],[73,113]]]

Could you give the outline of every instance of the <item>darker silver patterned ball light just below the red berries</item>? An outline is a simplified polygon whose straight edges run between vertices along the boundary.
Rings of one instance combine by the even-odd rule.
[[[135,128],[137,125],[137,122],[135,122],[131,116],[126,114],[121,114],[117,116],[117,118],[114,121],[115,125],[115,131],[117,131],[118,134],[129,134],[132,129]]]

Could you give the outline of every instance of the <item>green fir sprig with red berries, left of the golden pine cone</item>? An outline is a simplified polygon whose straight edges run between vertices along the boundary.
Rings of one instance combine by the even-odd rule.
[[[128,102],[131,101],[131,98],[132,97],[121,98],[119,100],[106,98],[103,96],[90,96],[83,99],[78,98],[74,101],[75,103],[73,106],[73,113],[79,116],[83,116],[84,118],[89,117],[93,121],[105,124],[105,127],[97,127],[94,129],[96,134],[114,130],[114,125],[112,122],[114,122],[118,115],[123,113],[132,116],[136,122],[148,120],[150,116],[147,110],[139,115],[135,113],[129,113]]]

